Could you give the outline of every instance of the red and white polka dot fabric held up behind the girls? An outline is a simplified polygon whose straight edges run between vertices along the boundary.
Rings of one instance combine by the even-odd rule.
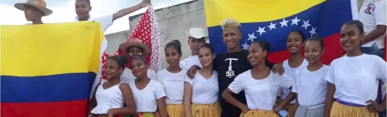
[[[142,43],[151,48],[151,54],[147,54],[144,58],[147,61],[150,69],[153,69],[155,72],[161,70],[161,47],[160,47],[160,30],[159,24],[157,23],[156,15],[154,13],[152,4],[149,5],[148,10],[142,15],[141,19],[137,23],[137,26],[134,28],[130,38],[138,38],[142,40]],[[127,41],[128,41],[127,40]],[[125,55],[125,52],[121,52],[118,49],[114,55]],[[108,53],[103,53],[102,55],[102,76],[101,79],[106,79],[104,74],[105,72],[105,62],[106,58],[109,57]],[[126,67],[130,66],[130,60]]]

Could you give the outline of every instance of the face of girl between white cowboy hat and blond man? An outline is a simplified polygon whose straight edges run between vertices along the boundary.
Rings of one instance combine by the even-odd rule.
[[[201,47],[199,49],[199,61],[203,67],[212,66],[212,62],[214,61],[215,55],[211,52],[210,48]]]

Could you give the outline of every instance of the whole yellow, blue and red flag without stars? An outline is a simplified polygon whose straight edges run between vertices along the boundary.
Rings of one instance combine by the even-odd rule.
[[[0,117],[85,117],[103,36],[97,22],[0,26]]]

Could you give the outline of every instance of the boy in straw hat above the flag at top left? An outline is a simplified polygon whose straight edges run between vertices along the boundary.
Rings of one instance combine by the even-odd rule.
[[[52,10],[46,8],[45,0],[27,0],[26,3],[17,3],[14,6],[24,11],[27,21],[32,24],[43,24],[42,17],[52,14]]]

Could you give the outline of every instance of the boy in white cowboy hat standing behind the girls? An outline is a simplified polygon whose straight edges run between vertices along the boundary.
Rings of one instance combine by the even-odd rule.
[[[188,45],[191,49],[191,55],[188,58],[180,61],[180,67],[183,69],[190,69],[192,65],[196,65],[202,68],[202,64],[199,62],[199,48],[205,43],[205,34],[203,28],[191,28],[189,31],[185,31],[188,37]]]

